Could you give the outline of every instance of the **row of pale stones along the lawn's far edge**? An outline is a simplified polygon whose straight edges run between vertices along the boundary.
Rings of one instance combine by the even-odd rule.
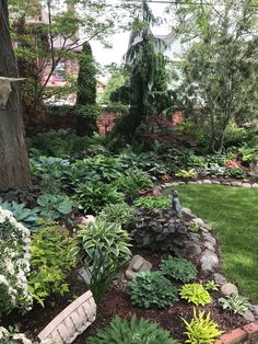
[[[227,185],[227,186],[238,186],[238,187],[258,187],[258,182],[243,182],[243,181],[221,181],[221,180],[213,180],[213,179],[206,179],[206,180],[196,180],[196,181],[175,181],[171,183],[162,184],[163,188],[178,186],[178,185],[196,185],[196,184],[216,184],[216,185]]]

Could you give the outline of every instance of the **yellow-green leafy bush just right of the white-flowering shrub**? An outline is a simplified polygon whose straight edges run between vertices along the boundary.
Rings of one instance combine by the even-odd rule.
[[[39,228],[32,236],[30,291],[43,307],[48,296],[68,291],[64,279],[74,265],[71,242],[68,231],[61,227]]]

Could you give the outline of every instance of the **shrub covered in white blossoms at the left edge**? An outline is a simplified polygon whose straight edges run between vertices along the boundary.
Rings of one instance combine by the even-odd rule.
[[[0,207],[0,312],[31,309],[28,293],[31,232]]]

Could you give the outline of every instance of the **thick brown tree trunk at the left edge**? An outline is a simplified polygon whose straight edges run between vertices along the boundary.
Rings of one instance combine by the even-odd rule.
[[[9,31],[8,0],[0,1],[0,76],[15,78],[16,62]],[[0,191],[31,186],[17,83],[0,106]]]

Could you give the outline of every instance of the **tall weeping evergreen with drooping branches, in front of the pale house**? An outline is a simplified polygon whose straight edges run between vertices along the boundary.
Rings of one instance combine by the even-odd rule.
[[[130,78],[115,95],[117,100],[130,106],[129,114],[124,116],[116,127],[116,131],[127,139],[133,137],[146,115],[161,114],[165,107],[171,106],[167,80],[163,82],[167,76],[165,58],[157,53],[164,42],[156,38],[151,31],[151,26],[156,23],[157,20],[143,0],[141,13],[132,24],[129,48],[125,56],[125,68],[129,70]],[[164,102],[163,106],[159,106],[161,94],[169,100]]]

